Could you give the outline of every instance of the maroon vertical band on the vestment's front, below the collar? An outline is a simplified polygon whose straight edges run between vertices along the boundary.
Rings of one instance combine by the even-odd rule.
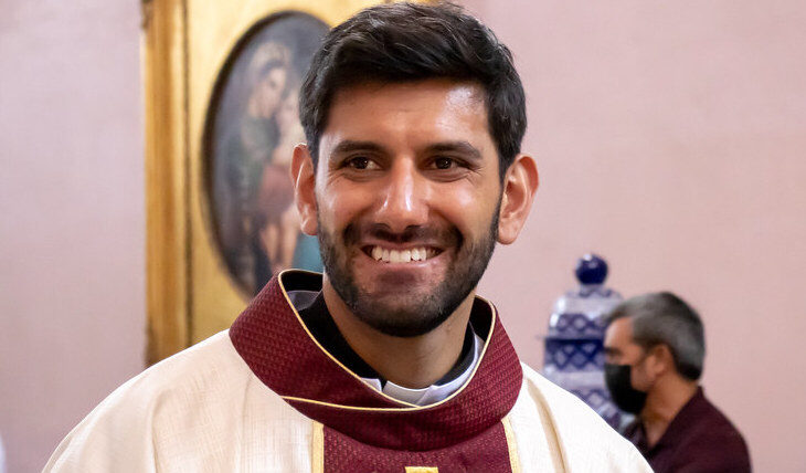
[[[439,473],[511,472],[500,422],[453,446],[411,452],[361,443],[325,428],[325,472],[405,472],[406,466],[436,466]]]

